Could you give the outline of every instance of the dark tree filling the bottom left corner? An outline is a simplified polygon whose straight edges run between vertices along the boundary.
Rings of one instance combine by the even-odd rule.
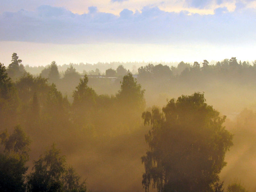
[[[0,133],[0,143],[0,191],[25,191],[29,138],[16,126],[10,136],[7,131]]]

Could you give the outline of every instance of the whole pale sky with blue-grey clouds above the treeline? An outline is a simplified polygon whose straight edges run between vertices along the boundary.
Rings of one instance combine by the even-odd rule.
[[[0,62],[255,60],[252,0],[0,0]]]

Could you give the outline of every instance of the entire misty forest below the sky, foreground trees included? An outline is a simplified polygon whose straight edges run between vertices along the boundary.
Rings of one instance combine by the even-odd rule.
[[[60,72],[13,53],[0,191],[256,191],[256,61],[169,65]]]

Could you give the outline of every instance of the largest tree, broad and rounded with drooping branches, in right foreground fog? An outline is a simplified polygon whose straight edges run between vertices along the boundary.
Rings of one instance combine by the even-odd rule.
[[[148,191],[153,180],[159,192],[211,191],[232,146],[232,135],[222,126],[226,116],[207,105],[201,93],[172,99],[162,111],[142,114],[152,125],[145,136],[150,150],[142,156],[143,187]]]

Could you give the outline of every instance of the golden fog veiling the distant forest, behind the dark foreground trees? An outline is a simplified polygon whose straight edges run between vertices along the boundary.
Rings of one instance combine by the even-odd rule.
[[[233,135],[220,172],[225,190],[237,180],[256,191],[256,61],[232,57],[211,63],[98,66],[58,66],[53,61],[32,70],[16,54],[6,72],[1,68],[2,76],[7,73],[11,79],[1,82],[0,132],[11,134],[20,125],[30,138],[26,175],[55,143],[87,189],[145,191],[141,157],[150,150],[145,134],[154,124],[145,124],[142,113],[154,108],[165,113],[162,108],[172,98],[178,102],[181,95],[199,92],[221,118],[227,116],[223,125]]]

